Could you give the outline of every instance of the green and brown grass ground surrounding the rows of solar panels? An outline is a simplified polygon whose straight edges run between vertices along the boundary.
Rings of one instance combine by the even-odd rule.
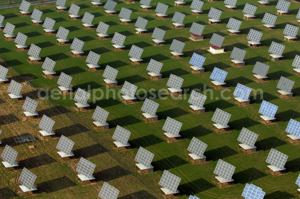
[[[190,14],[191,0],[186,0],[187,6],[174,7],[173,1],[160,0],[159,2],[168,3],[169,8],[167,14],[169,19],[155,19],[155,12],[139,10],[139,3],[125,4],[123,1],[117,1],[117,11],[121,7],[130,8],[133,10],[131,19],[133,24],[120,25],[118,16],[106,16],[103,7],[93,8],[90,6],[90,1],[77,1],[76,4],[81,7],[79,15],[83,16],[85,12],[95,15],[93,24],[98,25],[102,21],[110,25],[108,34],[112,37],[114,32],[119,32],[126,35],[125,43],[126,51],[115,52],[112,50],[111,39],[98,40],[96,39],[96,31],[83,30],[82,22],[70,21],[67,12],[56,12],[53,4],[47,4],[43,7],[38,7],[43,11],[42,20],[50,17],[56,20],[54,29],[59,26],[70,30],[68,39],[73,40],[77,37],[85,41],[83,51],[88,54],[89,50],[101,55],[99,65],[103,70],[90,73],[86,70],[85,59],[72,58],[70,45],[58,46],[55,36],[47,36],[43,34],[42,26],[31,25],[30,17],[21,17],[18,9],[1,10],[1,15],[5,16],[3,24],[10,22],[16,25],[14,34],[21,32],[28,37],[26,44],[31,43],[42,48],[40,57],[42,59],[49,57],[56,61],[54,70],[60,74],[64,72],[73,77],[71,84],[73,88],[82,88],[91,92],[98,99],[90,99],[88,103],[91,105],[91,111],[77,112],[74,106],[74,96],[66,96],[66,99],[42,100],[37,98],[37,91],[28,86],[23,86],[21,94],[23,97],[29,96],[35,98],[39,102],[37,111],[40,118],[22,122],[22,102],[11,102],[8,99],[8,85],[1,85],[1,115],[0,128],[2,134],[0,140],[5,144],[10,145],[19,152],[17,161],[20,167],[15,171],[5,172],[0,169],[0,198],[22,198],[22,193],[18,193],[18,185],[16,179],[22,172],[22,168],[26,167],[34,174],[37,180],[35,185],[38,188],[38,194],[28,198],[97,198],[98,192],[101,189],[103,181],[115,186],[120,190],[119,197],[126,198],[161,198],[159,179],[166,169],[171,173],[182,178],[178,190],[181,193],[179,198],[188,198],[190,194],[196,195],[201,199],[211,198],[242,198],[241,193],[246,183],[253,183],[259,186],[266,192],[267,199],[285,199],[297,198],[297,185],[295,181],[299,174],[300,165],[300,147],[298,144],[292,145],[286,140],[285,128],[290,118],[299,121],[300,105],[299,94],[300,84],[297,81],[298,76],[293,74],[292,61],[296,54],[299,53],[299,43],[287,43],[283,41],[283,29],[287,22],[297,24],[295,19],[299,9],[299,4],[291,3],[288,16],[278,16],[275,23],[276,29],[265,31],[262,28],[262,18],[265,12],[276,14],[275,6],[277,1],[270,1],[269,7],[258,7],[256,10],[256,20],[246,21],[242,19],[241,12],[246,0],[238,0],[236,11],[224,10],[223,1],[211,3],[205,1],[202,10],[203,15],[194,16]],[[156,1],[157,3],[158,1]],[[69,7],[72,1],[67,1],[66,6]],[[253,1],[256,4],[256,1]],[[152,7],[155,7],[155,1],[151,2]],[[198,22],[205,25],[208,21],[207,14],[210,7],[215,7],[223,10],[221,15],[221,25],[206,25],[203,35],[205,40],[193,42],[188,39],[189,28],[192,22]],[[33,8],[31,7],[31,10]],[[175,30],[172,28],[171,18],[175,11],[180,11],[186,14],[184,24],[187,28],[183,30]],[[149,20],[146,28],[150,34],[136,35],[134,34],[134,22],[137,17],[141,16]],[[230,17],[242,20],[241,35],[229,36],[227,34],[226,24]],[[155,47],[152,45],[151,33],[155,27],[162,28],[167,31],[164,40],[167,45]],[[247,47],[247,34],[251,28],[259,30],[263,33],[262,47],[252,49]],[[225,37],[223,46],[226,53],[220,55],[212,55],[207,51],[209,48],[209,39],[213,33],[220,34]],[[2,34],[2,33],[1,33]],[[173,39],[180,40],[185,43],[184,54],[185,58],[174,60],[170,56],[170,44]],[[272,41],[285,45],[283,53],[284,60],[280,62],[272,62],[268,60],[268,48]],[[31,65],[28,63],[27,51],[17,52],[13,41],[0,39],[0,58],[1,65],[9,68],[9,79],[14,79],[18,82],[24,80],[29,81],[30,85],[37,88],[55,89],[57,88],[57,77],[45,79],[42,76],[42,64]],[[142,47],[144,49],[142,59],[144,64],[133,66],[130,64],[128,52],[131,45]],[[233,47],[238,47],[247,51],[245,62],[246,66],[235,68],[229,65],[229,58]],[[205,73],[194,75],[190,73],[188,62],[193,52],[206,57],[204,63]],[[146,67],[153,58],[161,61],[164,65],[161,73],[163,79],[160,81],[151,81],[147,78]],[[258,84],[252,80],[253,73],[251,72],[256,61],[270,65],[268,72],[269,82]],[[114,88],[116,91],[121,90],[125,81],[137,85],[138,88],[143,88],[140,94],[149,95],[150,89],[155,89],[154,93],[158,94],[161,88],[167,88],[167,80],[170,74],[180,76],[184,79],[182,88],[190,89],[182,99],[172,99],[166,95],[167,99],[155,99],[159,103],[157,111],[159,121],[156,123],[145,123],[142,119],[142,111],[140,111],[143,101],[133,105],[125,105],[120,99],[113,99],[112,92],[108,96],[101,98],[101,93],[93,93],[92,89],[103,89],[103,71],[106,65],[119,70],[117,81],[119,85]],[[226,88],[229,90],[214,90],[210,88],[209,76],[214,67],[218,67],[228,72],[225,79]],[[277,94],[277,82],[280,76],[287,77],[295,81],[293,98],[280,99]],[[262,89],[263,99],[279,106],[277,114],[277,123],[269,126],[261,124],[259,120],[259,106],[262,102],[260,93],[253,96],[250,95],[251,104],[247,107],[238,107],[234,103],[233,91],[237,83],[244,84],[253,89]],[[188,111],[187,100],[192,89],[201,89],[201,93],[207,95],[204,107],[205,114],[194,115]],[[204,90],[204,89],[209,90]],[[212,89],[212,90],[210,90]],[[225,92],[224,92],[225,91]],[[55,97],[60,95],[54,94]],[[107,99],[106,99],[107,97]],[[224,97],[229,97],[225,99]],[[255,97],[257,97],[255,99]],[[95,101],[95,103],[93,103]],[[96,131],[92,127],[92,114],[96,106],[100,106],[109,111],[107,122],[110,124],[110,129],[107,131]],[[229,120],[231,131],[224,134],[217,134],[212,130],[211,117],[216,108],[220,108],[232,114]],[[37,141],[34,143],[35,149],[28,149],[29,144],[16,144],[13,141],[13,136],[23,133],[31,133],[38,135],[38,123],[41,116],[46,114],[55,120],[53,130],[57,137],[48,141]],[[167,143],[163,138],[162,126],[167,117],[172,117],[183,123],[180,135],[182,140],[173,143]],[[129,143],[132,148],[126,151],[117,152],[113,149],[113,139],[111,138],[115,127],[120,125],[131,131]],[[236,140],[242,127],[245,127],[259,134],[256,142],[257,152],[252,154],[244,154],[238,150],[239,142]],[[55,146],[60,135],[65,135],[75,141],[73,153],[77,159],[61,162],[57,158]],[[208,144],[206,152],[208,162],[204,164],[193,165],[188,160],[187,147],[194,137]],[[139,175],[135,170],[134,157],[138,148],[142,146],[155,154],[152,165],[155,172],[152,174]],[[266,157],[271,148],[275,148],[289,156],[285,165],[286,174],[273,177],[267,170]],[[2,146],[1,150],[4,147]],[[84,157],[96,164],[94,176],[96,182],[90,185],[82,186],[76,179],[74,169],[80,157]],[[213,174],[215,165],[218,159],[222,159],[236,167],[233,179],[235,184],[220,188],[214,183]]]

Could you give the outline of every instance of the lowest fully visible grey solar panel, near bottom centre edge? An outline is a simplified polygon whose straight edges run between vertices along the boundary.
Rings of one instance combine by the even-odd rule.
[[[158,184],[175,193],[180,180],[180,177],[177,177],[176,175],[171,174],[169,171],[165,170]]]

